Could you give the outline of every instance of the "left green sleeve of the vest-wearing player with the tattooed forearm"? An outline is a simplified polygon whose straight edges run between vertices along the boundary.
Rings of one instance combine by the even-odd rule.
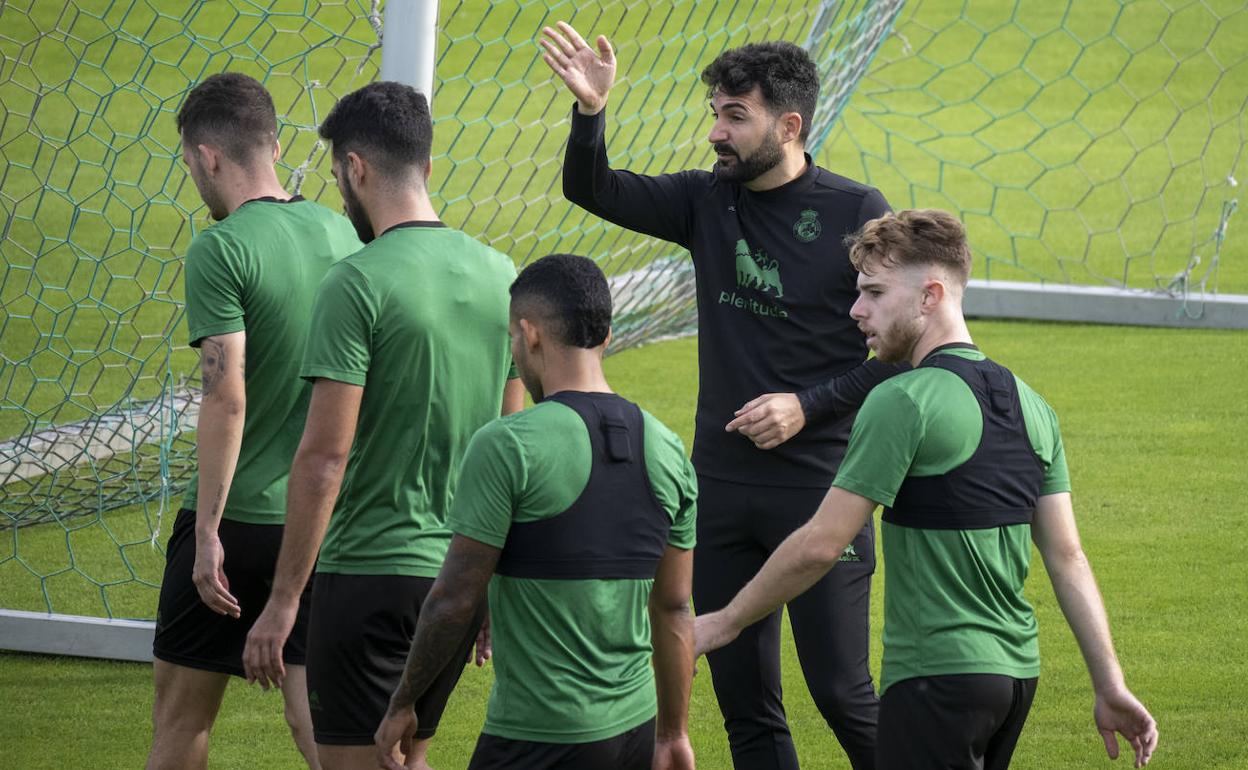
[[[507,421],[487,423],[468,442],[459,487],[447,515],[451,532],[502,548],[525,477],[524,451]]]

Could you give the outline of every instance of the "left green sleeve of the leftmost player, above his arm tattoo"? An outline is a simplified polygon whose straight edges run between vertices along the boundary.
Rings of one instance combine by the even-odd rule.
[[[186,324],[191,347],[213,334],[246,328],[242,276],[221,240],[211,230],[200,233],[186,251]]]

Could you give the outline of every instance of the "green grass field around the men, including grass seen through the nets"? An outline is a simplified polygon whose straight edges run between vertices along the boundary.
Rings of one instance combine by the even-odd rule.
[[[151,398],[193,368],[180,257],[207,222],[176,161],[172,116],[202,75],[265,79],[287,117],[283,167],[312,158],[305,195],[338,206],[314,126],[336,96],[376,76],[367,5],[0,2],[0,442]],[[570,100],[537,60],[537,30],[569,17],[615,40],[613,162],[658,172],[709,162],[700,66],[746,39],[801,40],[814,5],[443,2],[434,180],[444,218],[518,261],[569,250],[618,272],[670,256],[562,201]],[[1199,275],[1236,195],[1227,177],[1248,181],[1246,39],[1237,0],[911,0],[819,158],[896,207],[957,211],[978,277],[1143,287],[1193,255]],[[1243,216],[1227,230],[1222,292],[1248,293]],[[1248,629],[1234,608],[1248,554],[1227,533],[1246,523],[1236,439],[1248,429],[1248,336],[1005,322],[973,331],[1062,416],[1119,650],[1162,724],[1159,766],[1241,766],[1248,706],[1234,693],[1248,673]],[[617,387],[686,443],[693,344],[609,363]],[[84,465],[79,480],[65,474],[34,493],[5,485],[0,510],[49,490],[49,507],[71,489],[90,499],[92,474],[126,479]],[[0,607],[152,616],[157,509],[0,528]],[[1042,574],[1032,595],[1046,673],[1017,766],[1085,766],[1098,751],[1086,678]],[[787,669],[804,766],[845,766]],[[0,655],[10,714],[0,766],[137,766],[149,678],[142,665]],[[488,673],[466,675],[436,749],[442,766],[463,764],[487,688]],[[278,711],[275,698],[232,688],[213,766],[296,766]],[[693,713],[703,766],[726,766],[706,678]]]

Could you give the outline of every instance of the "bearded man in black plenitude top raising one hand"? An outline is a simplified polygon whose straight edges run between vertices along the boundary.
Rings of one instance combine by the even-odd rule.
[[[698,293],[694,604],[721,608],[819,507],[854,411],[896,367],[866,361],[842,237],[880,213],[879,191],[815,166],[805,140],[815,65],[787,42],[724,52],[703,71],[715,115],[713,172],[639,176],[607,162],[615,55],[567,24],[543,30],[545,62],[577,99],[563,167],[568,200],[693,256]],[[797,658],[855,768],[870,768],[877,701],[867,668],[870,523],[842,569],[789,604]],[[780,689],[780,610],[709,656],[733,760],[794,769]]]

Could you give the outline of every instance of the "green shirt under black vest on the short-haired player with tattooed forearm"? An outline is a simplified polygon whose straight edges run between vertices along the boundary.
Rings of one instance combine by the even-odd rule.
[[[668,543],[694,547],[698,482],[680,439],[644,413],[645,467],[671,517]],[[589,482],[589,432],[569,407],[540,403],[497,419],[464,457],[451,528],[503,548],[512,523],[563,513]],[[654,580],[489,584],[494,686],[484,733],[580,744],[613,738],[656,711],[648,603]]]

